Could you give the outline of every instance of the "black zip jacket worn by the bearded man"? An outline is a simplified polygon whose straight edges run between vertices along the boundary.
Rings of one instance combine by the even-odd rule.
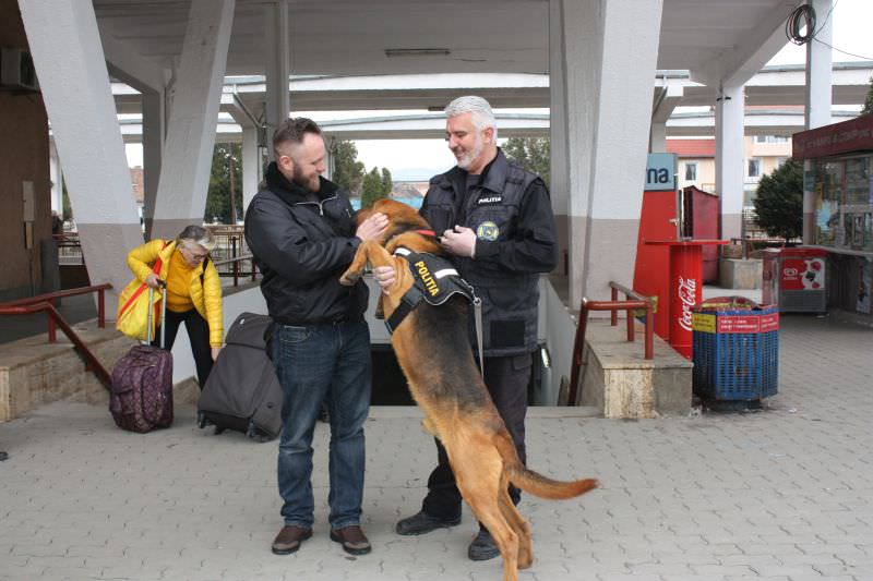
[[[362,281],[339,285],[361,242],[355,235],[351,204],[336,184],[320,180],[313,196],[273,162],[266,187],[246,211],[246,242],[263,274],[261,292],[270,316],[283,325],[360,320],[367,308]]]

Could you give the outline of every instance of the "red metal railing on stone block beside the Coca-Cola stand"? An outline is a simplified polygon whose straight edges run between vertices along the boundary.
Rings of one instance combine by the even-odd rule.
[[[631,289],[619,285],[618,282],[610,281],[609,287],[612,293],[611,301],[589,301],[587,298],[582,299],[579,306],[579,322],[576,326],[576,338],[573,341],[573,358],[570,367],[570,394],[567,396],[567,406],[576,404],[576,396],[579,384],[579,372],[583,365],[587,365],[587,361],[583,361],[582,355],[585,351],[585,331],[588,327],[588,312],[589,311],[611,311],[610,324],[615,327],[619,324],[619,311],[627,312],[627,341],[634,340],[634,311],[644,308],[646,312],[645,319],[645,340],[644,340],[644,356],[645,359],[654,359],[655,356],[655,313],[653,308],[653,300],[649,296],[643,296]],[[629,301],[619,301],[619,292],[624,293],[625,298],[633,299]]]

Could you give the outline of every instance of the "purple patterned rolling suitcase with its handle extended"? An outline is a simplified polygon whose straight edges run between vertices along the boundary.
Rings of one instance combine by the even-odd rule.
[[[155,290],[148,288],[154,304]],[[152,313],[148,308],[148,344],[137,344],[112,367],[109,411],[118,427],[145,433],[172,424],[172,354],[163,349],[167,302],[162,299],[160,348],[152,347]]]

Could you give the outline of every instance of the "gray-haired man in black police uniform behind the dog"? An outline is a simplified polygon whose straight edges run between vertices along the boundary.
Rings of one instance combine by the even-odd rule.
[[[540,178],[512,165],[497,145],[491,106],[459,97],[445,108],[445,138],[456,167],[430,180],[420,214],[482,300],[485,383],[524,462],[527,385],[537,349],[539,275],[558,264],[549,191]],[[392,267],[379,267],[385,289]],[[475,346],[475,334],[470,334]],[[397,533],[418,535],[461,522],[461,492],[445,449],[436,441],[438,465],[428,479],[421,510],[397,523]],[[519,491],[510,487],[513,503]],[[468,549],[473,560],[500,554],[481,524]]]

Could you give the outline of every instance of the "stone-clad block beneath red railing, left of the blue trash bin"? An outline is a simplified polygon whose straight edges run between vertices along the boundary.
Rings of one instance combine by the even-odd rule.
[[[581,404],[601,411],[603,417],[644,419],[687,415],[691,411],[692,363],[655,336],[655,359],[643,353],[644,331],[627,342],[623,320],[588,322],[581,379]]]

